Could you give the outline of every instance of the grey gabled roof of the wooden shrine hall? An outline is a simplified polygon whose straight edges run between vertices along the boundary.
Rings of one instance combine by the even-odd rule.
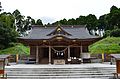
[[[61,30],[62,33],[57,33],[57,30]],[[20,39],[50,39],[56,35],[63,35],[69,39],[90,39],[99,38],[98,36],[90,35],[88,30],[83,25],[61,25],[61,26],[36,26],[33,28],[30,34]]]

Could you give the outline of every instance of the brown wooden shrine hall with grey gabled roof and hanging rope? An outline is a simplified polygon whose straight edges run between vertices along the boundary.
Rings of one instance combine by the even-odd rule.
[[[89,59],[88,46],[99,40],[83,25],[33,25],[20,42],[30,46],[30,57],[39,64],[77,64]]]

